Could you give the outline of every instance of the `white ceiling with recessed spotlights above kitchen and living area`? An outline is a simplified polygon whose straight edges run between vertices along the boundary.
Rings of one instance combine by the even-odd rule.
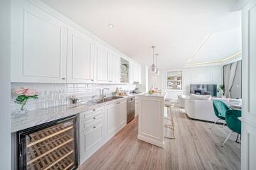
[[[213,62],[241,50],[238,0],[41,0],[137,62],[160,69]],[[113,28],[108,25],[113,24]]]

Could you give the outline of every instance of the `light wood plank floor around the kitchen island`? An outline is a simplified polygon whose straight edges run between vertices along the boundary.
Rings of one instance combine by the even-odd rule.
[[[240,144],[230,136],[225,147],[227,127],[191,120],[180,108],[174,114],[176,139],[165,139],[161,149],[137,140],[137,118],[82,164],[80,170],[100,169],[240,169]]]

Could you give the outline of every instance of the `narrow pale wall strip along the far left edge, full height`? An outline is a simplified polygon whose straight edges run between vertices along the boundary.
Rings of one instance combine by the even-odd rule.
[[[11,169],[10,3],[0,1],[0,169]]]

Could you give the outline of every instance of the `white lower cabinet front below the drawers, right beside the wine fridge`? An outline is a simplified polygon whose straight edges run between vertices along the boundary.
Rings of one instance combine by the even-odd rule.
[[[80,132],[80,164],[99,149],[105,141],[104,123]]]

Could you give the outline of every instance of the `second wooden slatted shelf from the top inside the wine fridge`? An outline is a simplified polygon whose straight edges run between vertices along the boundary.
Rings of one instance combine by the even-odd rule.
[[[55,135],[54,137],[44,140],[43,142],[37,143],[27,149],[27,164],[31,164],[41,157],[46,156],[55,149],[63,147],[69,142],[73,141],[73,138],[68,134]]]

